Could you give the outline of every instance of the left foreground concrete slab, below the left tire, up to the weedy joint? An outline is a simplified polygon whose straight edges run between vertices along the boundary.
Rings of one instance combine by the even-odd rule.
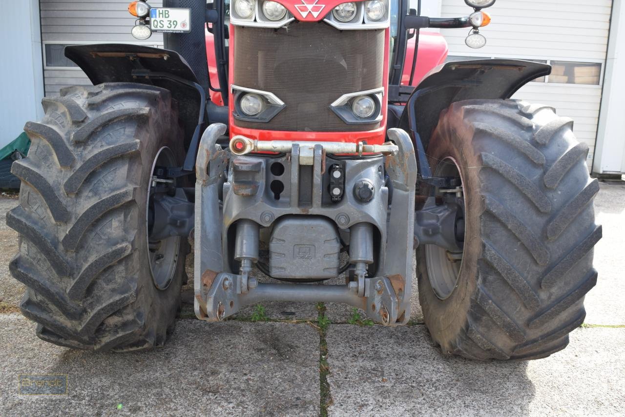
[[[165,348],[124,355],[54,346],[33,331],[21,315],[0,315],[0,415],[319,415],[311,326],[179,320]],[[19,374],[68,375],[68,395],[18,395]]]

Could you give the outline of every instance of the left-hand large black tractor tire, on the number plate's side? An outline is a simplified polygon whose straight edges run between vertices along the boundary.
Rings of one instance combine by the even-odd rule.
[[[161,346],[174,328],[188,252],[183,238],[148,247],[153,165],[183,158],[171,94],[101,84],[63,89],[42,104],[44,119],[24,128],[29,154],[12,166],[22,185],[7,215],[19,232],[10,270],[27,287],[21,311],[56,345]]]

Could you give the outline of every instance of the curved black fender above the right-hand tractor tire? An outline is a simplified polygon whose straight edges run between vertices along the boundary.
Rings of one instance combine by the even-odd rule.
[[[471,99],[509,99],[537,77],[551,73],[551,66],[516,59],[479,59],[447,62],[433,69],[412,92],[399,120],[427,149],[442,110],[454,102]],[[418,149],[415,143],[415,148]]]

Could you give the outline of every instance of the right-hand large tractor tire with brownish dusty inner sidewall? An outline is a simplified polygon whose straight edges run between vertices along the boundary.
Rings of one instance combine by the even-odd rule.
[[[571,128],[551,107],[518,101],[457,102],[441,114],[427,154],[435,174],[462,181],[464,249],[450,260],[419,247],[417,274],[443,353],[544,358],[584,321],[584,295],[597,281],[599,184]]]

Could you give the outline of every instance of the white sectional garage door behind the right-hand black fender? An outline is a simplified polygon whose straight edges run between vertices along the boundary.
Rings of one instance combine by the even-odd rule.
[[[492,23],[482,29],[487,45],[471,49],[467,31],[446,29],[451,60],[467,57],[530,59],[551,64],[551,76],[530,82],[513,98],[556,107],[574,120],[577,138],[594,155],[601,88],[609,35],[610,0],[499,0],[488,9]],[[442,0],[442,16],[464,16],[461,0]]]

